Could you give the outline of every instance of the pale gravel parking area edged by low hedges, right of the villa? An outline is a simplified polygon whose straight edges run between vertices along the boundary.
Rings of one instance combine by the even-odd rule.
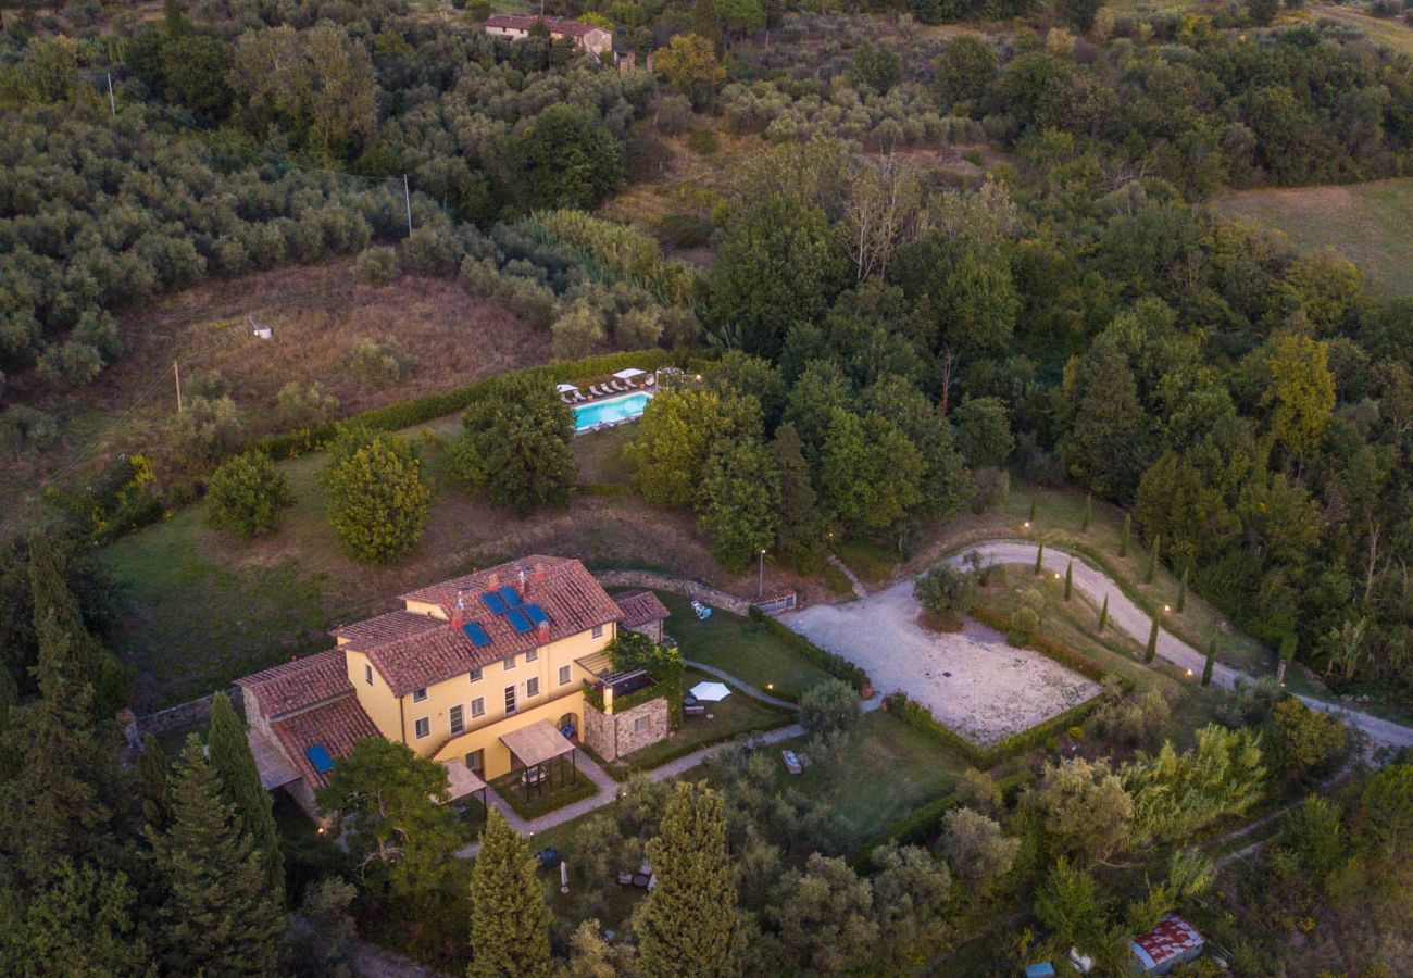
[[[903,690],[945,726],[989,746],[1064,712],[1099,685],[978,622],[937,633],[917,623],[913,582],[780,620],[868,670],[882,694]]]

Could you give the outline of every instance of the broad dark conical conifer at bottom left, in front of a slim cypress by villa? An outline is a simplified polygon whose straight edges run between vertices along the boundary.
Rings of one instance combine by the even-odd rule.
[[[147,830],[167,900],[161,957],[172,974],[278,971],[285,919],[264,865],[201,741],[187,738],[172,770],[172,821]]]

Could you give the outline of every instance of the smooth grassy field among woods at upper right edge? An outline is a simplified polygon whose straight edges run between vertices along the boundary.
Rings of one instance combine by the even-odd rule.
[[[1388,295],[1413,295],[1413,178],[1226,194],[1217,212],[1284,232],[1303,252],[1334,247]]]

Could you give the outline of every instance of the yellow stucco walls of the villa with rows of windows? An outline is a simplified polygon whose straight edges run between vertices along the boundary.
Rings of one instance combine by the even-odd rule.
[[[408,611],[415,609],[408,606]],[[521,652],[516,654],[512,668],[506,668],[504,660],[490,663],[475,681],[468,673],[461,673],[428,687],[421,701],[414,700],[414,694],[401,700],[394,697],[377,668],[369,684],[365,671],[367,656],[349,644],[343,644],[343,652],[349,681],[383,736],[406,743],[424,758],[465,758],[472,750],[485,750],[486,776],[493,779],[510,770],[510,752],[499,742],[502,734],[536,719],[558,725],[564,714],[574,714],[575,728],[582,729],[584,680],[591,677],[575,660],[602,652],[613,640],[615,629],[610,622],[603,626],[599,637],[586,630],[552,642],[536,650],[534,661],[528,661]],[[562,666],[569,667],[567,683],[560,683]],[[531,678],[538,680],[538,693],[533,697],[527,694],[527,681]],[[506,687],[510,685],[516,688],[516,712],[507,718]],[[473,717],[472,704],[478,698],[483,701],[485,712]],[[465,732],[454,735],[451,709],[458,705],[462,708]],[[417,721],[424,718],[428,721],[428,732],[417,736]]]

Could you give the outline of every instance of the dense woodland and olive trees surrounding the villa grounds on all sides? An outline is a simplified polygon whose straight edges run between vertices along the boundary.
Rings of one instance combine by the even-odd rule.
[[[144,300],[356,254],[372,284],[459,277],[548,331],[561,360],[660,346],[708,363],[651,401],[626,454],[642,497],[691,509],[726,570],[769,548],[814,572],[842,537],[909,555],[1013,478],[1074,485],[1128,507],[1269,647],[1335,691],[1406,705],[1413,302],[1202,202],[1413,171],[1413,61],[1344,28],[1272,27],[1277,4],[1259,0],[1152,20],[1078,0],[877,6],[551,4],[654,51],[656,76],[403,3],[6,11],[6,445],[73,437],[38,404],[119,362],[122,317]],[[900,17],[1007,23],[941,40]],[[591,216],[682,144],[706,164],[749,153],[651,226]],[[934,165],[952,150],[969,168]],[[396,384],[403,356],[369,346],[350,369]],[[469,490],[521,516],[574,493],[572,423],[541,380],[475,400],[454,451]],[[338,417],[317,389],[284,401],[257,421],[239,391],[194,391],[167,444],[131,447],[155,468],[124,456],[52,486],[47,536],[8,544],[0,971],[88,974],[96,954],[106,974],[335,974],[357,916],[384,936],[406,924],[404,947],[442,964],[480,948],[472,974],[550,974],[551,957],[577,975],[671,974],[688,938],[704,974],[913,974],[1019,907],[1010,964],[1081,943],[1111,972],[1125,934],[1178,905],[1218,921],[1241,974],[1407,960],[1406,763],[1313,796],[1222,885],[1195,848],[1345,760],[1342,728],[1273,688],[1177,743],[1166,704],[1111,690],[1094,750],[1037,753],[1022,790],[968,776],[940,834],[872,855],[846,851],[818,799],[764,790],[746,753],[715,763],[715,789],[633,783],[579,830],[605,872],[646,841],[663,878],[612,945],[551,919],[503,824],[475,869],[449,858],[469,839],[428,801],[435,766],[391,745],[331,784],[341,811],[386,790],[341,828],[348,854],[276,841],[222,707],[209,756],[194,742],[168,763],[150,742],[120,769],[130,677],[85,554],[203,492],[220,529],[268,531],[290,499],[261,452]],[[359,428],[329,447],[339,538],[374,562],[408,550],[427,520],[415,448]],[[393,512],[396,538],[373,538]],[[856,711],[848,690],[821,693],[811,753],[844,752]],[[401,849],[398,818],[417,825]],[[285,934],[290,907],[311,927]]]

